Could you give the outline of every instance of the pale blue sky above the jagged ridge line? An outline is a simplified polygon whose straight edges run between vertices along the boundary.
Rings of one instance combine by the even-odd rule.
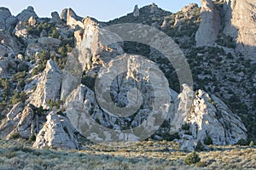
[[[137,4],[139,8],[151,3],[167,11],[177,12],[189,3],[201,5],[201,0],[0,0],[0,7],[9,8],[13,15],[32,6],[39,17],[50,17],[51,12],[61,14],[63,8],[73,8],[81,17],[94,17],[97,20],[108,21],[131,13]]]

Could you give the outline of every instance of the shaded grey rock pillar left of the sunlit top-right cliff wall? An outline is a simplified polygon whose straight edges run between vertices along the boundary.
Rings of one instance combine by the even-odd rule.
[[[220,18],[218,9],[212,0],[201,1],[201,24],[196,32],[196,46],[213,46],[220,30]]]

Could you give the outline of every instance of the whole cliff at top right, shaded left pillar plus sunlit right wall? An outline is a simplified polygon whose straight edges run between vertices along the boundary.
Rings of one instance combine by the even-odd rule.
[[[236,42],[237,55],[255,60],[255,3],[254,0],[202,0],[196,46],[215,46],[218,35],[223,33]]]

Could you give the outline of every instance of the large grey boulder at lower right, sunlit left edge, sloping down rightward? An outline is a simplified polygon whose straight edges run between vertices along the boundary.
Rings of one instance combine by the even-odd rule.
[[[199,90],[188,121],[196,139],[203,141],[207,136],[213,144],[236,144],[247,139],[247,129],[227,105],[215,96]]]

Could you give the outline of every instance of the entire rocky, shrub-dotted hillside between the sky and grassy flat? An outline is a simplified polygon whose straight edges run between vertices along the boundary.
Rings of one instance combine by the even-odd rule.
[[[177,14],[156,4],[136,6],[133,13],[108,23],[82,19],[71,8],[61,16],[52,13],[51,19],[39,18],[32,7],[16,17],[1,8],[0,137],[64,150],[80,148],[79,133],[95,142],[176,139],[184,150],[194,150],[199,141],[253,139],[255,44],[253,33],[246,38],[248,29],[239,27],[248,21],[233,17],[238,11],[248,17],[254,8],[248,0],[240,3],[203,0],[201,8],[189,4]],[[183,84],[179,91],[172,64],[154,48],[123,42],[104,29],[127,22],[153,26],[172,37],[189,61],[197,90]],[[125,71],[116,71],[116,65]],[[105,80],[106,74],[113,78],[101,84],[110,86],[108,95],[108,87],[101,93],[95,89],[96,77]],[[161,114],[165,119],[158,122]]]

